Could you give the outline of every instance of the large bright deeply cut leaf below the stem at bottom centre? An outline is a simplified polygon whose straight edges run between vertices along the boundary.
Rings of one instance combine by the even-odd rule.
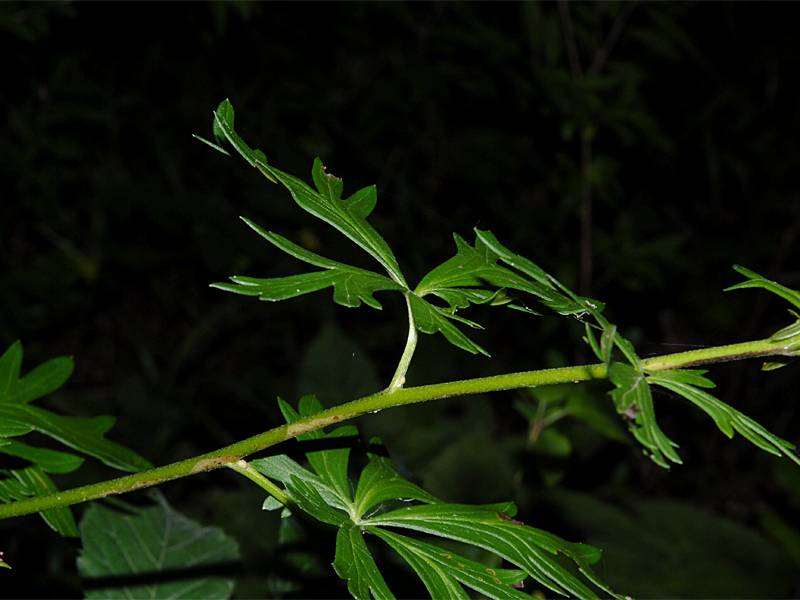
[[[303,397],[297,411],[283,401],[280,407],[290,423],[322,410],[313,396]],[[351,448],[337,442],[345,442],[347,437],[352,440],[355,433],[352,427],[342,427],[330,433],[300,436],[301,442],[313,442],[315,447],[323,443],[330,446],[305,453],[310,469],[284,455],[251,462],[259,472],[286,486],[291,510],[337,528],[334,569],[347,581],[353,597],[394,598],[366,536],[394,549],[417,573],[432,598],[468,597],[465,588],[489,598],[528,597],[516,589],[528,576],[567,596],[592,598],[598,589],[612,593],[589,567],[600,558],[599,550],[515,521],[512,503],[469,506],[442,502],[401,477],[387,458],[374,453],[368,453],[357,485],[351,485]],[[415,504],[408,506],[409,502]],[[482,565],[429,541],[391,531],[398,528],[477,546],[516,568]],[[583,577],[565,568],[557,554],[571,559]]]

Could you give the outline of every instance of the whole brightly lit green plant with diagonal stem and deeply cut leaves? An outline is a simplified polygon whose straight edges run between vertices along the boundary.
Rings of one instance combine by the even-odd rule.
[[[402,477],[374,441],[364,445],[352,424],[365,413],[429,402],[451,396],[530,388],[558,383],[575,385],[608,380],[610,397],[620,419],[656,464],[680,463],[672,441],[656,420],[652,388],[669,390],[707,413],[728,437],[741,434],[762,450],[800,464],[794,446],[713,396],[713,382],[698,366],[763,357],[767,369],[782,366],[800,354],[800,316],[765,339],[667,354],[642,359],[634,345],[604,316],[602,302],[579,296],[537,264],[503,245],[488,230],[475,229],[468,241],[454,235],[455,255],[430,270],[412,287],[389,245],[370,224],[376,207],[374,186],[347,197],[341,179],[314,161],[313,186],[270,164],[234,129],[233,107],[225,100],[214,113],[214,141],[202,140],[224,154],[233,149],[269,181],[284,186],[295,203],[334,227],[377,263],[367,270],[323,257],[281,234],[244,218],[243,221],[278,251],[307,263],[313,270],[276,278],[235,275],[213,287],[260,300],[288,300],[333,288],[335,303],[381,309],[376,295],[401,294],[407,308],[408,335],[397,368],[386,387],[351,402],[324,408],[313,395],[296,405],[278,399],[285,423],[224,448],[162,467],[152,467],[133,450],[106,437],[110,417],[79,418],[56,414],[34,402],[69,378],[72,360],[45,362],[21,375],[22,346],[16,342],[0,357],[0,454],[17,462],[0,470],[0,518],[40,513],[55,531],[80,537],[83,550],[78,569],[88,597],[149,595],[227,597],[234,582],[203,572],[170,580],[160,573],[203,567],[238,558],[235,540],[216,528],[203,527],[182,516],[156,495],[152,506],[126,506],[116,511],[92,505],[80,526],[72,504],[156,486],[165,481],[230,469],[264,491],[259,510],[280,510],[282,516],[301,516],[331,531],[333,569],[358,599],[393,598],[367,539],[394,551],[427,588],[432,598],[467,598],[468,590],[489,598],[529,598],[542,590],[564,596],[620,596],[593,571],[600,549],[569,542],[515,519],[513,503],[468,505],[444,502]],[[202,138],[199,138],[202,139]],[[743,267],[734,267],[744,281],[728,289],[762,288],[800,310],[800,292],[768,280]],[[592,364],[508,373],[491,377],[407,387],[406,372],[419,333],[441,334],[460,351],[488,352],[465,330],[481,326],[464,317],[472,305],[511,308],[523,313],[549,311],[578,319],[584,341],[596,356]],[[525,318],[525,317],[521,317]],[[467,401],[467,400],[465,400]],[[26,434],[39,432],[70,451],[28,444]],[[302,460],[274,453],[248,460],[296,438]],[[355,472],[351,455],[360,453],[364,465]],[[84,487],[60,491],[53,476],[78,469],[86,455],[133,474]],[[476,562],[438,545],[437,539],[476,546],[501,559],[507,568]],[[372,543],[372,542],[371,542]],[[561,555],[573,568],[565,566]],[[13,556],[0,554],[0,566],[12,568]],[[152,578],[152,576],[156,576]],[[148,580],[151,577],[151,580]],[[138,579],[137,579],[138,578]]]

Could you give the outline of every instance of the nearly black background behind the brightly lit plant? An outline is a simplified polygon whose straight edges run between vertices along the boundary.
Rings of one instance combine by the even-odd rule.
[[[74,355],[47,404],[116,415],[113,438],[157,464],[280,422],[277,395],[330,405],[388,382],[397,298],[356,311],[329,292],[265,304],[208,287],[304,269],[237,215],[369,265],[285,190],[190,137],[210,137],[225,97],[277,167],[307,179],[318,155],[346,192],[376,183],[373,222],[412,282],[453,253],[451,232],[480,226],[604,300],[642,355],[766,337],[789,322],[784,304],[722,289],[735,263],[800,287],[799,8],[4,3],[0,345],[21,339],[27,368]],[[567,320],[472,316],[493,358],[423,336],[411,384],[589,359]],[[712,375],[719,397],[800,442],[796,367]],[[581,393],[607,405],[605,392]],[[599,571],[623,593],[800,594],[791,463],[669,396],[659,419],[685,462],[669,472],[576,419],[554,425],[552,447],[532,444],[515,402],[533,400],[461,398],[359,425],[434,493],[514,499],[526,522],[605,548]],[[112,475],[87,463],[58,483]],[[345,594],[333,537],[281,547],[248,482],[215,472],[162,489],[239,540],[239,597]],[[15,566],[0,594],[81,595],[76,548],[38,518],[0,523],[0,550]],[[397,593],[419,593],[388,568]]]

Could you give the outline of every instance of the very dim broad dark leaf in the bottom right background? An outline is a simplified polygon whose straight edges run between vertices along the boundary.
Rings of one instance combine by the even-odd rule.
[[[591,544],[612,586],[634,598],[790,598],[797,567],[760,532],[687,502],[601,501],[544,492],[553,510]]]

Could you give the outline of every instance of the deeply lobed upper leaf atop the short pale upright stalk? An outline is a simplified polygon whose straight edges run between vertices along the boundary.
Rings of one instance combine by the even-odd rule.
[[[501,305],[532,312],[512,295],[522,292],[560,314],[585,312],[582,299],[566,297],[544,271],[531,261],[510,253],[489,231],[476,230],[474,245],[455,235],[456,255],[431,270],[412,290],[391,248],[367,220],[377,202],[375,186],[365,187],[343,199],[342,180],[328,173],[319,158],[314,160],[311,169],[314,188],[276,169],[267,162],[261,150],[250,148],[236,133],[234,110],[228,100],[224,100],[214,113],[213,133],[217,144],[198,139],[225,154],[228,152],[219,144],[230,144],[270,181],[286,187],[300,208],[347,236],[386,272],[385,276],[324,258],[243,218],[253,230],[280,250],[325,270],[268,279],[236,275],[231,277],[233,283],[216,283],[213,287],[262,300],[284,300],[333,286],[336,303],[357,307],[363,302],[378,309],[381,304],[374,297],[375,292],[399,291],[406,296],[412,324],[417,330],[428,334],[441,333],[454,346],[472,354],[487,356],[489,353],[457,325],[482,328],[457,314],[471,304]],[[507,266],[501,266],[498,262],[504,262]],[[444,301],[446,306],[434,304],[425,296],[435,296]]]

